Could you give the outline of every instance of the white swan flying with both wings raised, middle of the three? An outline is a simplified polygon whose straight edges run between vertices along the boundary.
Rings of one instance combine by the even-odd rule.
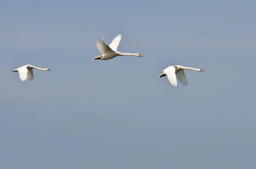
[[[116,56],[126,56],[126,55],[134,55],[134,56],[139,56],[139,57],[143,57],[141,54],[137,53],[121,53],[117,51],[117,47],[120,43],[121,40],[121,34],[117,35],[112,42],[110,43],[110,45],[106,45],[105,41],[104,41],[104,37],[103,38],[99,38],[96,42],[97,47],[99,49],[99,52],[102,52],[101,56],[96,56],[95,58],[93,58],[94,60],[109,60],[109,59],[113,59]]]

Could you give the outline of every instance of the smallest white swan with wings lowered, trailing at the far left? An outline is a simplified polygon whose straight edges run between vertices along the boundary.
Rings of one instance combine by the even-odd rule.
[[[21,66],[18,69],[12,70],[12,72],[19,72],[21,81],[25,81],[27,77],[29,77],[29,80],[34,80],[34,74],[32,69],[38,69],[38,70],[44,70],[44,71],[51,70],[49,68],[42,69],[32,65],[25,65],[25,66]]]

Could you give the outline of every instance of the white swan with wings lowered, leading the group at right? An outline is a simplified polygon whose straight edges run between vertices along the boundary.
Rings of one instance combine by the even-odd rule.
[[[159,77],[167,76],[167,78],[170,81],[170,83],[172,84],[172,86],[177,86],[177,79],[180,81],[180,83],[183,86],[187,86],[188,83],[186,81],[184,69],[195,70],[198,72],[204,72],[203,69],[195,69],[195,68],[176,65],[176,66],[169,66],[168,68],[164,69],[163,73],[160,74]],[[177,77],[177,79],[176,79],[176,77]]]

